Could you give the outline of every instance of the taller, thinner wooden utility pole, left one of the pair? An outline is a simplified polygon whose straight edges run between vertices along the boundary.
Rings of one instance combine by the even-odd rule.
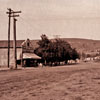
[[[10,63],[10,23],[11,23],[11,8],[8,9],[9,12],[6,12],[6,14],[8,14],[9,17],[9,21],[8,21],[8,60],[7,60],[7,64],[8,64],[8,68],[9,68],[9,63]]]

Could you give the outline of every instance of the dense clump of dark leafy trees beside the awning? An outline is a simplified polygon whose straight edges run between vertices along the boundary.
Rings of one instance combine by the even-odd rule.
[[[67,64],[68,60],[80,58],[76,49],[62,39],[50,40],[43,34],[37,43],[39,46],[35,49],[35,54],[42,58],[45,65],[59,65],[60,62]]]

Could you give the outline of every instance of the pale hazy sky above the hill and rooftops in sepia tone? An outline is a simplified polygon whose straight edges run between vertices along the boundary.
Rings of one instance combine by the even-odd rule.
[[[40,39],[42,34],[100,40],[100,0],[0,0],[0,40],[8,38],[7,8],[22,11],[17,40]]]

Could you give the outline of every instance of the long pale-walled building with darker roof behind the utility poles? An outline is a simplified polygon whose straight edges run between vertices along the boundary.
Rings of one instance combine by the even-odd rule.
[[[19,60],[21,52],[22,52],[22,46],[21,44],[25,40],[17,40],[17,60]],[[27,40],[26,40],[27,41]],[[31,44],[34,48],[36,48],[37,41],[38,40],[30,40]],[[7,67],[7,58],[8,58],[8,41],[7,40],[0,40],[0,66]],[[13,41],[10,41],[10,66],[12,66],[14,63],[14,52],[13,52]]]

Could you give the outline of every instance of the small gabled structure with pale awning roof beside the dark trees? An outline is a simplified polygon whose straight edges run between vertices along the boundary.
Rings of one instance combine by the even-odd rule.
[[[34,54],[34,48],[33,45],[31,44],[31,41],[27,39],[22,43],[21,46],[22,46],[22,52],[17,60],[17,63],[21,64],[22,67],[38,66],[41,57]]]

